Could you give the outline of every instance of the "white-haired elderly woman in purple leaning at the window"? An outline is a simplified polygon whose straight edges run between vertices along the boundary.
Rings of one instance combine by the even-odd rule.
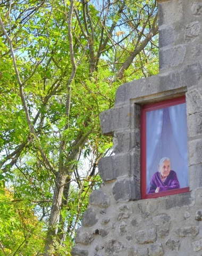
[[[155,172],[150,181],[148,194],[163,192],[180,188],[176,172],[171,170],[171,159],[163,157],[158,164],[158,172]]]

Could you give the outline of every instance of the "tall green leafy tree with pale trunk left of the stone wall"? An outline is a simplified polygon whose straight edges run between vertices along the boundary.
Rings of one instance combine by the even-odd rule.
[[[156,1],[5,0],[0,7],[2,182],[13,179],[17,202],[40,202],[44,255],[62,253],[58,244],[73,237],[99,182],[98,159],[112,145],[100,134],[99,113],[113,107],[121,83],[157,71]],[[79,161],[90,155],[82,179]],[[72,181],[78,213],[70,216]]]

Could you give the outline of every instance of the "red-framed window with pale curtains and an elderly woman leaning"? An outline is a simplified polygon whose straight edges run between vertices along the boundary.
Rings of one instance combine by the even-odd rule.
[[[141,108],[141,198],[189,191],[186,98]]]

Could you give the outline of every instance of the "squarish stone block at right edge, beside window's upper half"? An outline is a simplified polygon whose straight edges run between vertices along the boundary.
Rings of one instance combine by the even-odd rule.
[[[202,112],[189,115],[187,118],[189,138],[202,135]]]

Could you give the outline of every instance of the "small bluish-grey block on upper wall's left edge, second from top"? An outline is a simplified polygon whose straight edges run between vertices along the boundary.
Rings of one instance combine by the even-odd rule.
[[[177,35],[175,30],[172,27],[159,28],[159,48],[173,45]]]

